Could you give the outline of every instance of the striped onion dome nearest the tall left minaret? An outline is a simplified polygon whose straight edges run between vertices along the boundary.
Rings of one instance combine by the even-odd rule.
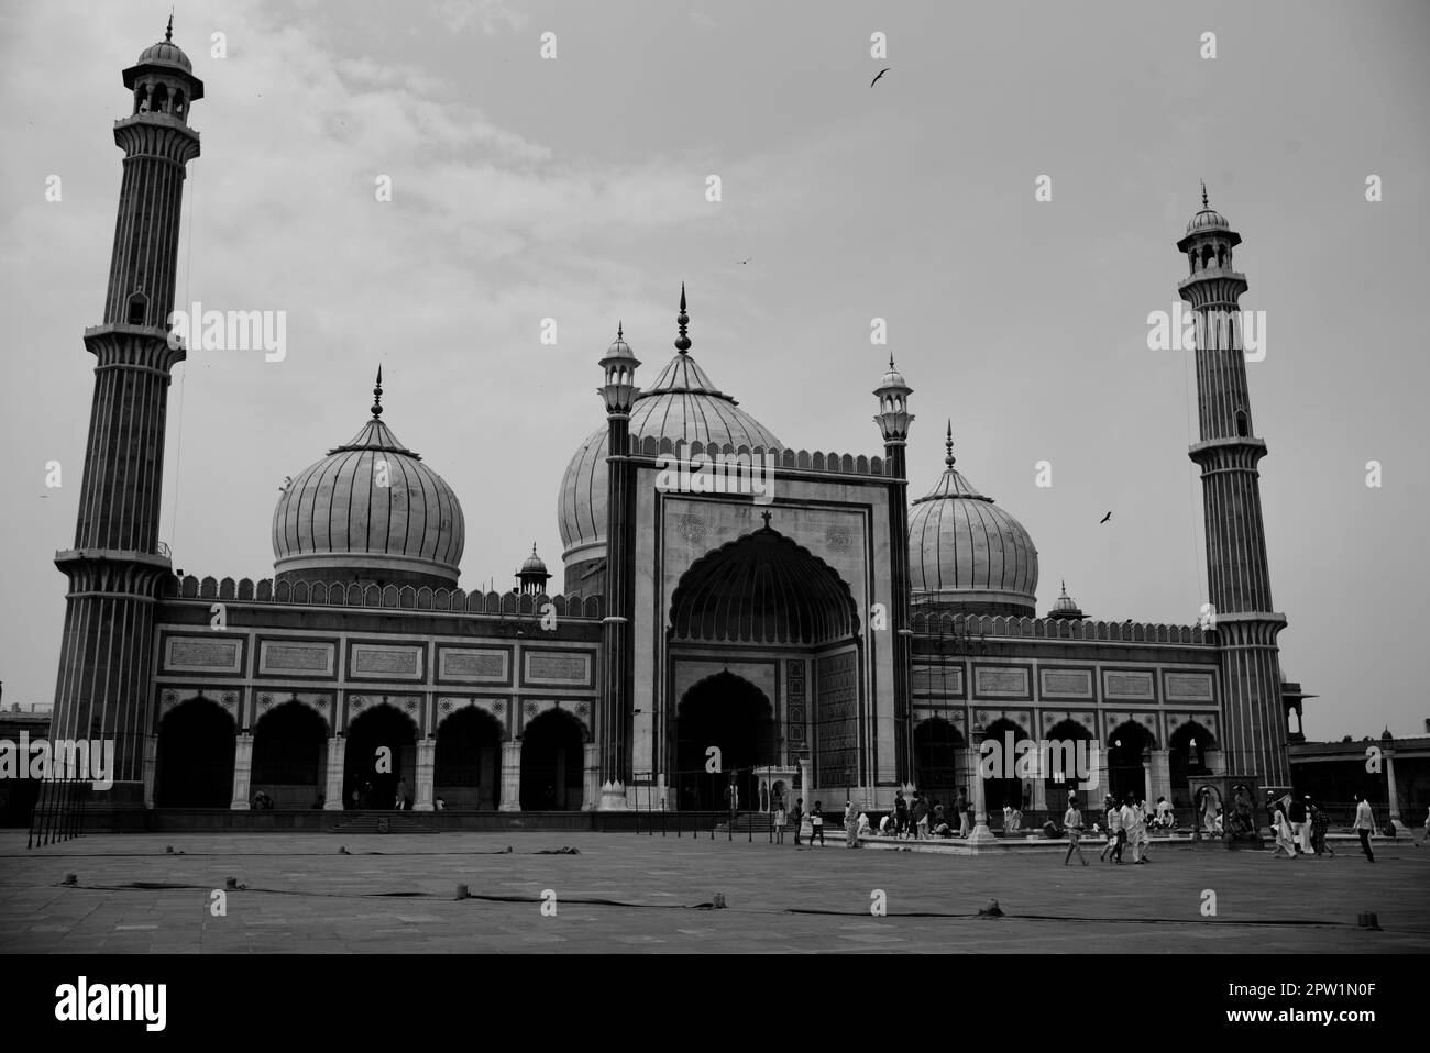
[[[273,510],[279,580],[456,587],[462,506],[443,479],[382,420],[372,420],[283,489]]]

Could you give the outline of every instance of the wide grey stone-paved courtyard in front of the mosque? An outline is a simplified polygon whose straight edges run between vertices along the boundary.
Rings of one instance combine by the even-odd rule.
[[[539,854],[563,846],[579,854]],[[0,830],[0,952],[1430,950],[1430,849],[1381,843],[1374,864],[1338,852],[1183,847],[1118,867],[1094,846],[1091,866],[1064,867],[1048,854],[851,852],[835,837],[795,849],[569,832],[126,834],[27,852],[23,830]],[[69,872],[74,887],[60,884]],[[247,887],[214,917],[229,877]],[[456,900],[459,883],[472,899]],[[1216,917],[1201,916],[1208,889]],[[869,912],[874,890],[887,917]],[[728,909],[702,909],[716,893]],[[977,916],[990,899],[1005,917]],[[1383,932],[1357,926],[1364,910]]]

